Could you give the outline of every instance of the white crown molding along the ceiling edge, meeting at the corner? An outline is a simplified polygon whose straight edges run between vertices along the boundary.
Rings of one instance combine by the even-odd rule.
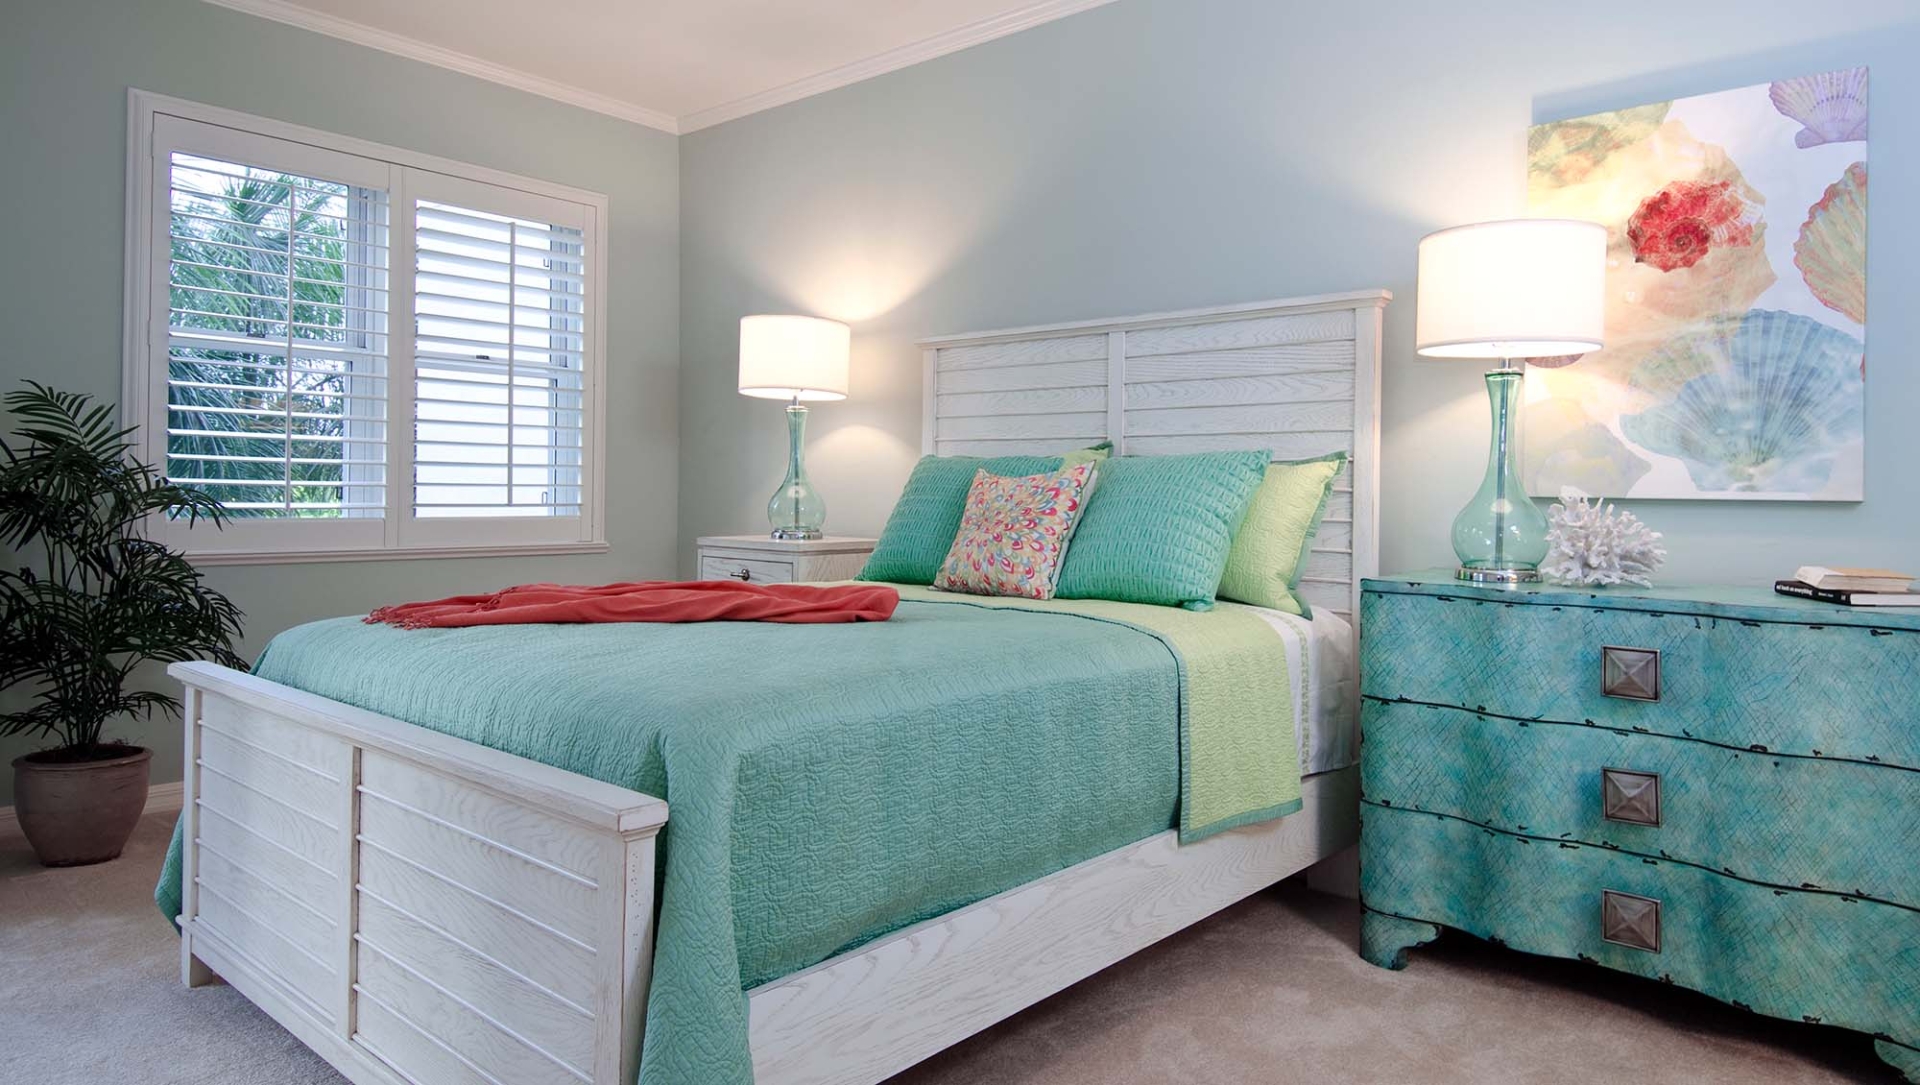
[[[516,67],[493,63],[492,60],[482,60],[478,56],[428,44],[419,38],[409,38],[405,35],[396,35],[392,31],[369,27],[367,23],[355,23],[351,19],[342,19],[338,15],[326,15],[311,8],[301,8],[300,4],[290,4],[288,0],[205,0],[205,2],[215,4],[219,8],[244,12],[248,15],[259,15],[261,19],[273,19],[275,23],[286,23],[288,27],[300,27],[303,31],[326,35],[330,38],[340,38],[344,42],[376,48],[380,52],[403,56],[407,60],[430,63],[434,67],[445,67],[449,71],[472,75],[474,79],[486,79],[488,83],[499,83],[501,86],[513,86],[515,90],[524,90],[528,94],[538,94],[541,98],[551,98],[555,102],[564,102],[568,106],[578,106],[582,109],[591,109],[595,113],[605,113],[609,117],[618,117],[622,121],[632,121],[636,125],[645,125],[649,129],[659,129],[662,133],[684,134],[684,133],[695,133],[699,129],[710,129],[714,125],[733,121],[749,113],[758,113],[762,109],[772,109],[776,106],[785,106],[789,102],[799,102],[801,98],[812,98],[814,94],[824,94],[828,90],[851,86],[864,79],[874,79],[876,75],[885,75],[889,71],[912,67],[916,63],[947,56],[950,52],[960,52],[964,48],[977,46],[981,42],[991,42],[995,38],[1018,35],[1020,31],[1039,27],[1041,23],[1066,19],[1068,15],[1077,15],[1091,8],[1112,4],[1114,0],[1041,0],[1039,4],[1027,4],[1023,8],[1016,8],[1000,15],[991,15],[987,19],[979,19],[964,27],[954,27],[952,31],[933,35],[931,38],[910,42],[899,48],[891,48],[883,54],[876,54],[866,60],[856,60],[852,63],[843,63],[839,67],[829,67],[828,71],[808,75],[806,79],[795,79],[793,83],[774,86],[770,90],[747,94],[745,98],[722,102],[720,106],[710,106],[707,109],[695,109],[684,117],[674,117],[670,113],[662,113],[660,109],[649,109],[647,106],[641,106],[637,102],[626,102],[622,98],[612,98],[609,94],[588,90],[584,86],[559,83],[555,79],[520,71]]]

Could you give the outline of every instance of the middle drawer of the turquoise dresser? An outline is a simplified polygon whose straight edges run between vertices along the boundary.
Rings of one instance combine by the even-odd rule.
[[[1920,772],[1411,703],[1361,730],[1369,803],[1920,908]]]

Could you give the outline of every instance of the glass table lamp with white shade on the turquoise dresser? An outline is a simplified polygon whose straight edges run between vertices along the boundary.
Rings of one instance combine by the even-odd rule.
[[[1453,517],[1459,578],[1540,580],[1548,518],[1521,486],[1517,365],[1601,348],[1607,229],[1571,219],[1513,219],[1421,238],[1413,348],[1425,357],[1486,357],[1494,442],[1486,480]]]

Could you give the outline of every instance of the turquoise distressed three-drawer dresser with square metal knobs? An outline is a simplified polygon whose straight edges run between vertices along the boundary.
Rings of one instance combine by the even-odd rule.
[[[1361,954],[1455,928],[1920,1081],[1920,611],[1367,580]]]

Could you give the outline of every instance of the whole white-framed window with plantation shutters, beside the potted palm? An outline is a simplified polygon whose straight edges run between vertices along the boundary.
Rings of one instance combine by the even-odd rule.
[[[603,549],[601,198],[138,92],[132,121],[129,422],[230,513],[156,536]]]

